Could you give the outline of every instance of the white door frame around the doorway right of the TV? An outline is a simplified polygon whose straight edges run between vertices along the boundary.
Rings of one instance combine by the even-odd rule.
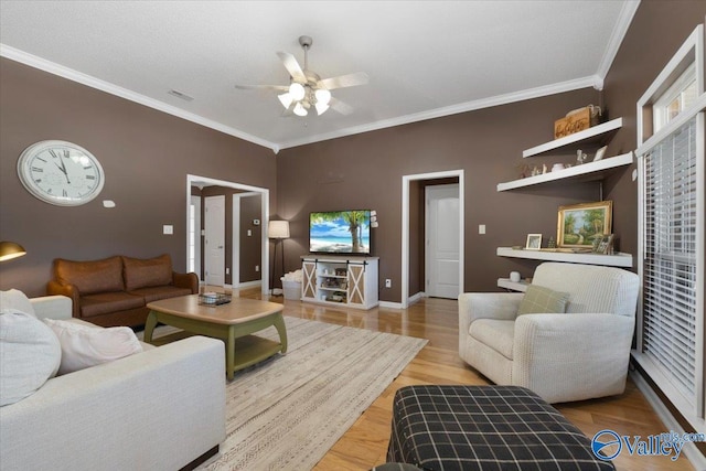
[[[402,302],[403,309],[409,306],[409,185],[413,181],[418,180],[437,180],[447,178],[459,179],[459,293],[463,290],[463,266],[464,266],[464,246],[463,238],[466,227],[464,206],[464,183],[463,170],[447,170],[432,173],[417,173],[413,175],[403,175],[402,178]]]

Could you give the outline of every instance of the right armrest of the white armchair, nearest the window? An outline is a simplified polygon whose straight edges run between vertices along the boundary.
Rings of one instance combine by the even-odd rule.
[[[632,317],[606,313],[520,315],[513,384],[542,390],[550,403],[577,400],[577,390],[581,398],[621,394],[634,324]]]

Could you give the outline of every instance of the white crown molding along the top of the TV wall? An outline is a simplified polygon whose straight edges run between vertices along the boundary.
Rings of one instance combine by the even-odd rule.
[[[442,108],[436,108],[428,111],[416,113],[413,115],[400,116],[392,119],[384,119],[381,121],[371,122],[362,126],[354,126],[346,129],[341,129],[335,132],[329,132],[323,135],[311,136],[304,139],[291,140],[280,143],[280,149],[288,149],[292,147],[306,146],[314,142],[320,142],[330,139],[342,138],[346,136],[359,135],[363,132],[376,131],[379,129],[392,128],[394,126],[408,125],[411,122],[425,121],[427,119],[442,118],[446,116],[458,115],[461,113],[473,111],[483,108],[491,108],[493,106],[507,105],[516,101],[524,101],[533,98],[541,98],[544,96],[556,95],[564,92],[573,92],[581,88],[602,88],[603,81],[598,75],[591,75],[588,77],[577,78],[574,81],[561,82],[558,84],[546,85],[536,88],[528,88],[526,90],[513,92],[505,95],[498,95],[494,97],[482,98],[473,101],[467,101],[458,105],[446,106]]]

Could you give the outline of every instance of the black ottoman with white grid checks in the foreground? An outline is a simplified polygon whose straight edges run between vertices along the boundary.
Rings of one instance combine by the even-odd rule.
[[[557,409],[518,386],[407,386],[387,461],[425,470],[614,470]]]

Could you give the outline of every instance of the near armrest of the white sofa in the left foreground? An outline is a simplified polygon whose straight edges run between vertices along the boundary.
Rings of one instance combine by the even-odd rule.
[[[223,342],[193,336],[0,408],[3,470],[176,470],[225,439]]]

